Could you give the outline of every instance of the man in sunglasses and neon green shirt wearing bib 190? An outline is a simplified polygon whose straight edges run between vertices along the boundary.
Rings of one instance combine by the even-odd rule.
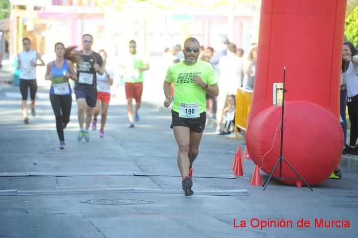
[[[206,121],[206,93],[217,97],[219,87],[214,68],[205,61],[197,60],[200,45],[196,38],[184,42],[184,61],[168,68],[164,81],[164,106],[172,102],[171,83],[174,83],[172,125],[178,144],[177,163],[182,175],[185,196],[193,195],[193,162],[199,152]]]

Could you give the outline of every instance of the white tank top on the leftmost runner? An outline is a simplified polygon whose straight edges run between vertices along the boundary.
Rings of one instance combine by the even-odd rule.
[[[37,61],[36,51],[22,51],[18,54],[20,66],[20,79],[36,79],[36,67],[30,64],[32,60],[34,63]]]

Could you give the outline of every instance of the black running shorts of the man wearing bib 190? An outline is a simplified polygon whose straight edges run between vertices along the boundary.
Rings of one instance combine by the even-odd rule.
[[[179,117],[179,113],[171,110],[172,122],[170,128],[173,127],[189,127],[191,131],[202,133],[205,128],[206,112],[200,113],[200,117],[197,118],[184,118]]]

